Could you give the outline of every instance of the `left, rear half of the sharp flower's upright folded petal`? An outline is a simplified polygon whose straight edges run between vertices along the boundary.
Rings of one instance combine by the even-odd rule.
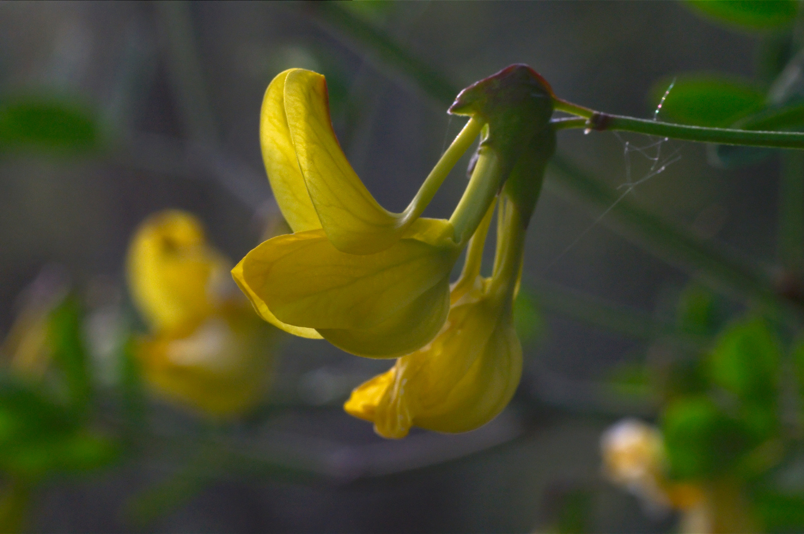
[[[321,228],[307,186],[296,159],[285,117],[285,79],[291,71],[281,72],[265,90],[260,111],[260,145],[265,170],[277,205],[294,231]]]

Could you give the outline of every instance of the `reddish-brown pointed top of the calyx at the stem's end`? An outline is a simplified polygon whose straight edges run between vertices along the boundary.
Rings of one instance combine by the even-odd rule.
[[[473,115],[490,111],[489,106],[515,106],[533,97],[552,100],[554,93],[542,75],[524,63],[514,63],[458,93],[448,111],[453,115]]]

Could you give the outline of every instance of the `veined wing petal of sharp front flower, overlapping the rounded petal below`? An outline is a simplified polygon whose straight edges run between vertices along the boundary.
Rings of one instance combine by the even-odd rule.
[[[351,255],[335,249],[322,230],[310,230],[253,249],[243,259],[243,279],[285,323],[372,328],[449,276],[455,256],[453,248],[416,239]]]

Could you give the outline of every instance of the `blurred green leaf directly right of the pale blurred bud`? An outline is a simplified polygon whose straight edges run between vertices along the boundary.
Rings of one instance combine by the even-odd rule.
[[[707,397],[671,402],[662,416],[662,433],[675,479],[711,479],[731,470],[755,445],[745,427]]]

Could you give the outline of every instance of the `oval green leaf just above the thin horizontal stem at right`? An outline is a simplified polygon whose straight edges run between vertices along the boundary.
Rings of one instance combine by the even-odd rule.
[[[654,108],[672,79],[661,79],[650,90]],[[658,117],[665,122],[726,128],[765,107],[765,95],[749,82],[724,75],[688,73],[675,79]]]

